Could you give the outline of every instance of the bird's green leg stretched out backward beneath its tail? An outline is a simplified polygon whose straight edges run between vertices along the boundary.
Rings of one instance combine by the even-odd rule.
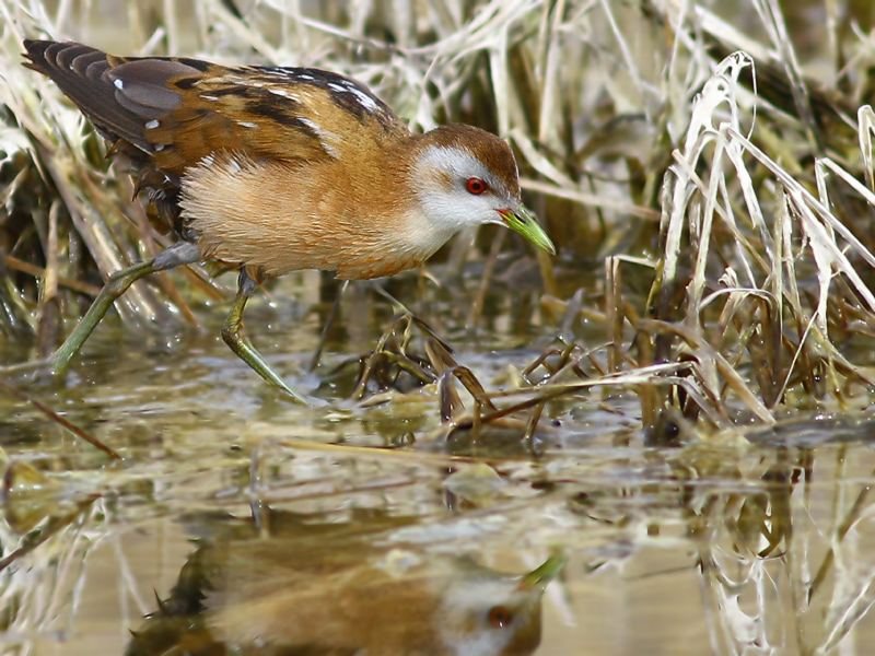
[[[154,273],[155,271],[164,271],[165,269],[173,269],[180,265],[189,265],[198,261],[198,247],[188,242],[179,242],[174,244],[166,250],[159,253],[155,257],[144,262],[139,262],[121,271],[116,271],[106,281],[101,293],[91,304],[85,316],[79,321],[79,326],[70,333],[61,347],[55,351],[49,359],[49,366],[51,372],[56,375],[63,374],[70,365],[70,361],[85,343],[85,340],[91,336],[97,324],[109,311],[121,294],[128,291],[131,284],[141,278]]]

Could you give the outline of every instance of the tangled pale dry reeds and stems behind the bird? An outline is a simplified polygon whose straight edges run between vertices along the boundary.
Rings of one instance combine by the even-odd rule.
[[[529,204],[560,251],[556,261],[537,256],[552,343],[514,389],[487,393],[407,317],[365,360],[359,397],[402,378],[438,382],[453,430],[534,409],[523,420],[533,435],[545,405],[619,388],[637,395],[656,440],[770,424],[786,409],[868,403],[868,3],[841,14],[832,13],[840,3],[825,3],[825,15],[792,23],[792,35],[798,16],[777,0],[739,1],[722,15],[680,0],[319,4],[201,0],[183,15],[174,3],[1,0],[0,328],[9,340],[45,355],[60,316],[81,312],[101,276],[166,244],[79,113],[19,66],[21,38],[47,35],[125,54],[330,68],[370,84],[413,129],[465,121],[511,141]],[[804,60],[817,63],[816,78]],[[481,237],[463,236],[450,260],[483,259],[482,291],[509,246],[503,233],[491,245]],[[580,272],[593,268],[599,282],[584,285]],[[186,276],[127,294],[121,319],[173,304],[194,321],[183,298],[220,288],[197,268]],[[464,420],[455,382],[474,398]]]

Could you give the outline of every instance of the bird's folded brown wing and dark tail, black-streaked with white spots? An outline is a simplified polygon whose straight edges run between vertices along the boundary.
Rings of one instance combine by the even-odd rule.
[[[228,68],[187,58],[125,58],[77,43],[25,40],[25,66],[45,73],[131,162],[159,214],[183,232],[185,171],[220,153],[252,161],[337,157],[336,121],[319,107],[374,122],[389,137],[404,124],[366,87],[315,69]],[[331,114],[328,112],[327,114]],[[326,126],[326,122],[328,127]]]

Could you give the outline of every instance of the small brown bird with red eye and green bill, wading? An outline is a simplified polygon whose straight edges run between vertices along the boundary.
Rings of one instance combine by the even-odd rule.
[[[447,125],[412,133],[362,83],[310,68],[225,67],[117,57],[25,40],[24,66],[51,78],[112,145],[178,242],[112,274],[51,356],[62,373],[112,304],[140,278],[197,261],[240,270],[222,327],[265,380],[304,402],[243,330],[266,280],[302,269],[347,280],[420,266],[466,226],[508,226],[555,254],[520,200],[510,147]]]

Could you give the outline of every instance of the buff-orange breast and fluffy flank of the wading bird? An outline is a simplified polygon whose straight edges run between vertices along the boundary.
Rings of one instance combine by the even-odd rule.
[[[214,159],[183,180],[183,219],[205,260],[257,267],[264,278],[304,269],[352,280],[392,276],[448,238],[377,184],[335,172],[329,185],[328,177],[307,163]]]

